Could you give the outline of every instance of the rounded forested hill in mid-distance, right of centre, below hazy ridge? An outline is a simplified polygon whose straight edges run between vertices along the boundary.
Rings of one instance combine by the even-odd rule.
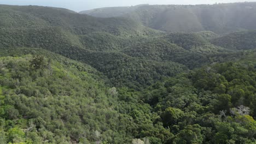
[[[211,44],[199,33],[171,33],[153,37],[127,46],[121,52],[143,60],[176,62],[189,69],[242,56],[241,52]]]

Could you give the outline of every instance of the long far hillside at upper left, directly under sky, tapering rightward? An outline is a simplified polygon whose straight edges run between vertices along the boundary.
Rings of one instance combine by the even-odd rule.
[[[139,23],[124,18],[102,19],[71,13],[67,10],[38,7],[0,5],[1,28],[61,27],[75,34],[106,31],[115,35],[129,35],[150,31]]]

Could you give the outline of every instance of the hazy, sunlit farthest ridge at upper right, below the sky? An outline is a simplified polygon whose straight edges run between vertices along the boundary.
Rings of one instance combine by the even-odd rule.
[[[118,11],[117,15],[115,12]],[[81,11],[96,17],[129,17],[168,32],[213,31],[218,34],[255,29],[256,3],[213,5],[138,5]]]

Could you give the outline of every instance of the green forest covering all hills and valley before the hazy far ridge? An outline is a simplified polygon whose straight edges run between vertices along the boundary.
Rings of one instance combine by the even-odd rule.
[[[164,6],[129,15],[147,7]],[[164,32],[106,15],[0,5],[1,144],[256,143],[252,27]]]

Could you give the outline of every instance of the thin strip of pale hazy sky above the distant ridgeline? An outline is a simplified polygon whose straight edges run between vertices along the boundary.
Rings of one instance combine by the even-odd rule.
[[[213,4],[245,2],[241,0],[0,0],[0,4],[43,5],[82,11],[101,7],[131,6],[137,4]],[[247,2],[256,2],[249,1]]]

